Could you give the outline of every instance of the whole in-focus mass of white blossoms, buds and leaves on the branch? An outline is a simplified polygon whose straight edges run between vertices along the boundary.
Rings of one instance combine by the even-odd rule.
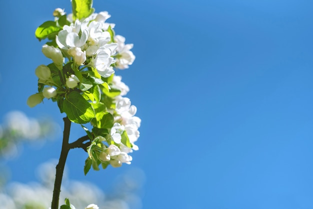
[[[141,120],[125,97],[128,86],[115,75],[116,69],[132,64],[133,45],[115,35],[115,24],[106,22],[107,11],[94,13],[90,1],[83,0],[73,0],[72,7],[68,15],[55,9],[54,21],[42,23],[35,31],[39,40],[48,39],[42,53],[52,63],[35,69],[38,92],[28,97],[27,104],[33,107],[44,98],[51,99],[70,121],[81,124],[89,138],[86,174],[91,167],[130,164],[129,153],[138,149],[135,141]],[[88,122],[92,128],[82,125]]]

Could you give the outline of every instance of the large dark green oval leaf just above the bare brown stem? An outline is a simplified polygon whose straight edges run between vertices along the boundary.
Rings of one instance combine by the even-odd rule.
[[[65,95],[63,111],[72,122],[79,124],[87,123],[95,117],[91,104],[77,91],[71,91]]]

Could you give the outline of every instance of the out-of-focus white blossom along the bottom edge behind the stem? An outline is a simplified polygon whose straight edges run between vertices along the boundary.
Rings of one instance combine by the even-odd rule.
[[[38,182],[10,182],[0,188],[0,208],[46,209],[50,206],[55,165],[57,160],[50,160],[38,166]],[[140,193],[144,182],[141,169],[131,168],[114,180],[115,188],[104,192],[96,184],[88,181],[70,180],[64,173],[60,203],[65,197],[75,202],[76,208],[84,208],[90,202],[96,202],[103,209],[141,209]]]

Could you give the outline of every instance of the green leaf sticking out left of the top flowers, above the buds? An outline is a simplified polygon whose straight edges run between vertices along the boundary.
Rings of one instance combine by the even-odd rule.
[[[58,31],[62,28],[56,25],[55,21],[45,21],[35,31],[35,36],[39,40],[47,37],[55,37]]]

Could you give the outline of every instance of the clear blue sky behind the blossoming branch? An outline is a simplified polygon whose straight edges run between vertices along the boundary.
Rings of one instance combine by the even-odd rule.
[[[56,103],[26,105],[34,69],[49,60],[34,30],[69,0],[1,1],[0,116],[50,115]],[[136,60],[117,71],[142,119],[131,165],[83,175],[86,153],[69,153],[77,180],[109,178],[129,166],[146,174],[143,208],[313,207],[313,2],[309,0],[94,0]],[[83,132],[73,127],[71,139]],[[9,161],[11,180],[35,179],[59,156],[60,139]],[[128,166],[128,167],[127,167]],[[20,170],[24,174],[21,175]]]

